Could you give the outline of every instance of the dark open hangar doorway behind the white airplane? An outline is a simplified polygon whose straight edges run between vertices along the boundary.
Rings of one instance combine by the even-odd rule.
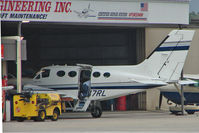
[[[2,36],[15,33],[17,23],[2,23]],[[27,40],[24,76],[52,64],[133,65],[145,57],[144,28],[27,23],[22,24],[22,36]],[[9,73],[16,73],[15,65],[8,62]],[[127,96],[127,109],[143,109],[138,101],[138,95]],[[102,104],[110,109],[109,102]]]

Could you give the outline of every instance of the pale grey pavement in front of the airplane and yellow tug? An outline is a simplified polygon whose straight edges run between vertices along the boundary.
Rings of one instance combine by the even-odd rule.
[[[167,111],[103,112],[101,118],[90,113],[64,113],[58,121],[3,122],[3,132],[199,132],[199,113],[173,115]]]

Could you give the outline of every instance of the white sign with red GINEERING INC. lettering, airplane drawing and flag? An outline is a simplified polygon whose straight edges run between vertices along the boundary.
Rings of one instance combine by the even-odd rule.
[[[2,21],[147,23],[148,3],[0,0]]]

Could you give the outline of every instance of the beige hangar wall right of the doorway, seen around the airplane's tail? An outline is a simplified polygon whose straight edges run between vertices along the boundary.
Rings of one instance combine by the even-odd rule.
[[[165,36],[174,28],[146,28],[146,57],[154,48],[165,38]],[[191,28],[195,30],[195,35],[184,65],[184,74],[199,74],[199,28]],[[146,109],[156,110],[159,106],[160,91],[158,89],[147,90],[146,92]],[[167,100],[163,98],[161,109],[168,109]]]

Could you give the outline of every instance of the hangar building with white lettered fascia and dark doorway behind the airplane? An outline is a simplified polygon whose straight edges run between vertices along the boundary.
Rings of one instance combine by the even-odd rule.
[[[18,23],[29,21],[21,27],[22,73],[28,77],[52,64],[138,64],[179,24],[198,28],[189,26],[189,0],[8,0],[0,8],[1,37],[17,35]],[[197,57],[189,55],[185,72],[199,73]],[[14,60],[4,57],[3,75],[16,74]],[[154,90],[129,95],[127,109],[154,109],[158,95]]]

